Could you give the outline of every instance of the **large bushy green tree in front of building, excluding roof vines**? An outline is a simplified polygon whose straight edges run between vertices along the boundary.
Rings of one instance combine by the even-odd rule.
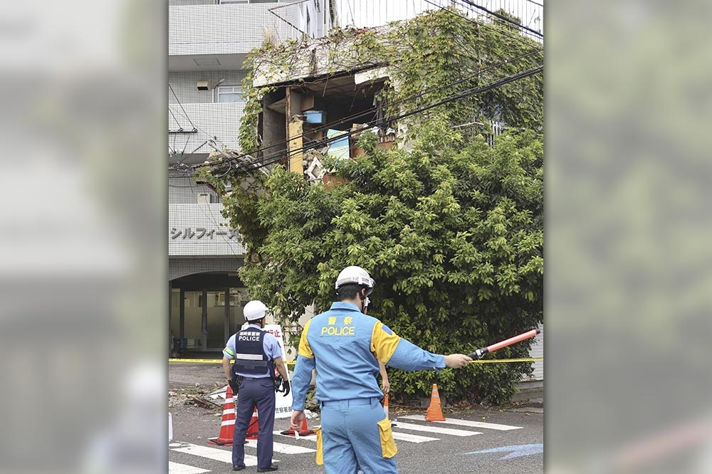
[[[371,314],[436,353],[471,352],[536,327],[543,315],[543,145],[534,132],[463,144],[434,120],[412,152],[384,151],[332,164],[345,182],[309,186],[278,167],[256,216],[261,258],[241,268],[254,297],[296,321],[305,305],[334,300],[341,268],[362,265],[377,284]],[[528,344],[493,357],[526,357]],[[396,391],[501,402],[528,364],[471,364],[458,372],[400,372]]]

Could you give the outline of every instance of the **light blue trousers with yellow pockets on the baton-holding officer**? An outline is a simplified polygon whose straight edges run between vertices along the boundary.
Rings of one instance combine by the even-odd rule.
[[[386,417],[378,399],[326,401],[321,405],[327,474],[397,474],[395,458],[384,458],[378,422]]]

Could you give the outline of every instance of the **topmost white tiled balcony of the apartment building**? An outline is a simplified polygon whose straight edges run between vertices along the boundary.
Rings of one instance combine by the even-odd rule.
[[[303,4],[291,2],[171,6],[168,69],[241,69],[247,53],[266,36],[300,37],[303,12]]]

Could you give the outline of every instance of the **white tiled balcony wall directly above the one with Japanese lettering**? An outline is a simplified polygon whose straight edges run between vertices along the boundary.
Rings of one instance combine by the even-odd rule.
[[[210,139],[220,148],[239,149],[243,102],[172,103],[168,109],[169,164],[204,162],[214,150]]]

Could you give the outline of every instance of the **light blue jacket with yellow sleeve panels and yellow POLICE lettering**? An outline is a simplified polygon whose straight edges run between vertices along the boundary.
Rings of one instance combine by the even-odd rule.
[[[304,409],[313,369],[319,401],[381,398],[379,360],[404,370],[445,368],[444,355],[402,339],[351,303],[333,303],[304,326],[292,377],[292,409]]]

